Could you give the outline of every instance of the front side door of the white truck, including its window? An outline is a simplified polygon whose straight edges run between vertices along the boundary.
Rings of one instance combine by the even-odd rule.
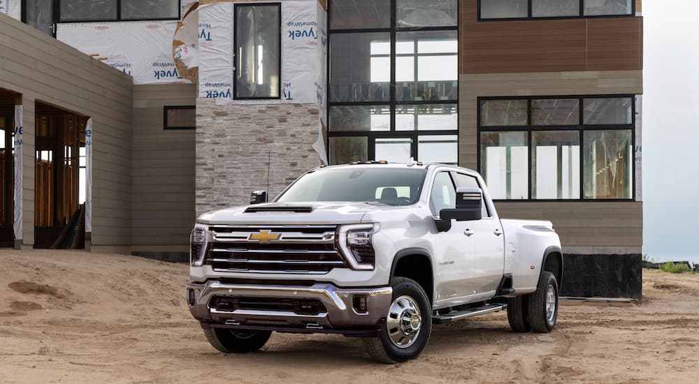
[[[430,209],[433,216],[445,208],[456,207],[456,186],[452,173],[441,171],[435,175],[430,191]],[[435,247],[435,306],[450,306],[470,301],[477,284],[473,281],[473,258],[475,242],[471,239],[470,221],[452,220],[452,228],[438,232],[434,237]]]

